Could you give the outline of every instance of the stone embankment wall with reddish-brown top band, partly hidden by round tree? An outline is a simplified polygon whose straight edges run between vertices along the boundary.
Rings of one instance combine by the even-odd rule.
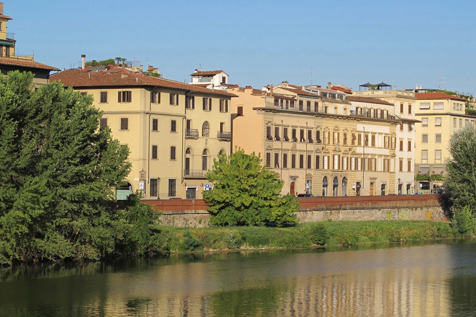
[[[388,195],[299,198],[300,222],[347,220],[447,220],[446,197],[441,195]],[[203,200],[144,200],[163,211],[162,224],[179,227],[208,226],[210,214]]]

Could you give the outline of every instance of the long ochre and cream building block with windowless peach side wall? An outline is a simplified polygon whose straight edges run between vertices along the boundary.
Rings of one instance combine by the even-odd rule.
[[[233,147],[261,154],[263,164],[284,181],[283,194],[395,192],[390,138],[395,138],[399,120],[389,109],[392,104],[360,98],[355,106],[342,91],[287,82],[262,89],[228,87],[238,95],[232,99]],[[362,115],[356,111],[359,107],[378,107],[379,112]]]

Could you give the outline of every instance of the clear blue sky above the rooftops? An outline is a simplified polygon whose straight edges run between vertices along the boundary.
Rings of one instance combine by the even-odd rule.
[[[117,56],[187,82],[223,69],[258,88],[283,80],[384,81],[476,95],[476,1],[4,0],[17,53],[69,68]],[[76,66],[76,65],[75,65]]]

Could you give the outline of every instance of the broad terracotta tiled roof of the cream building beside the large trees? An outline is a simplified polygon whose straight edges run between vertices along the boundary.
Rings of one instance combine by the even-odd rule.
[[[226,96],[236,96],[224,90],[208,89],[198,85],[189,85],[178,81],[146,76],[121,67],[104,67],[100,71],[86,69],[67,69],[50,76],[50,81],[60,80],[64,86],[91,87],[91,86],[159,86],[212,93]]]

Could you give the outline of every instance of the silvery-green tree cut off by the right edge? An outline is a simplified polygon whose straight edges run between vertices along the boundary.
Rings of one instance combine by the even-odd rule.
[[[445,190],[453,210],[463,207],[476,212],[476,127],[466,125],[449,141],[450,157],[446,159]]]

